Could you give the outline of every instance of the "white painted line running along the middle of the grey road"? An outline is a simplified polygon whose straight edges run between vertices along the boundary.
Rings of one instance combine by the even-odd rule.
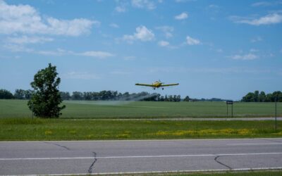
[[[97,159],[114,158],[172,158],[172,157],[201,157],[201,156],[258,156],[258,155],[278,155],[275,153],[219,153],[219,154],[199,154],[199,155],[159,155],[159,156],[98,156]],[[75,160],[75,159],[93,159],[94,157],[57,157],[57,158],[0,158],[0,161],[19,161],[19,160]]]

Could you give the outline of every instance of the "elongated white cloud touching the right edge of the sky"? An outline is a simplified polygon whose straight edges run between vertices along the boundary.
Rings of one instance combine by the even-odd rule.
[[[245,23],[248,25],[271,25],[271,24],[281,23],[282,15],[278,13],[273,13],[257,19],[231,16],[231,20],[233,20],[235,23]]]

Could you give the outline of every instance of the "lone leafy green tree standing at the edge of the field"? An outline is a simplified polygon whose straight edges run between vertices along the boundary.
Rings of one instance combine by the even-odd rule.
[[[39,70],[30,83],[35,92],[27,106],[39,118],[59,118],[60,111],[66,106],[59,106],[63,101],[59,92],[60,77],[57,77],[56,66],[49,63],[47,68]]]

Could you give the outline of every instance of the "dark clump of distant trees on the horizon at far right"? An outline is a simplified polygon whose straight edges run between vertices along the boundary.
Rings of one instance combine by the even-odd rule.
[[[259,92],[256,90],[255,92],[249,92],[245,96],[243,96],[243,102],[282,102],[282,92],[275,91],[269,94],[265,94],[265,92]]]

